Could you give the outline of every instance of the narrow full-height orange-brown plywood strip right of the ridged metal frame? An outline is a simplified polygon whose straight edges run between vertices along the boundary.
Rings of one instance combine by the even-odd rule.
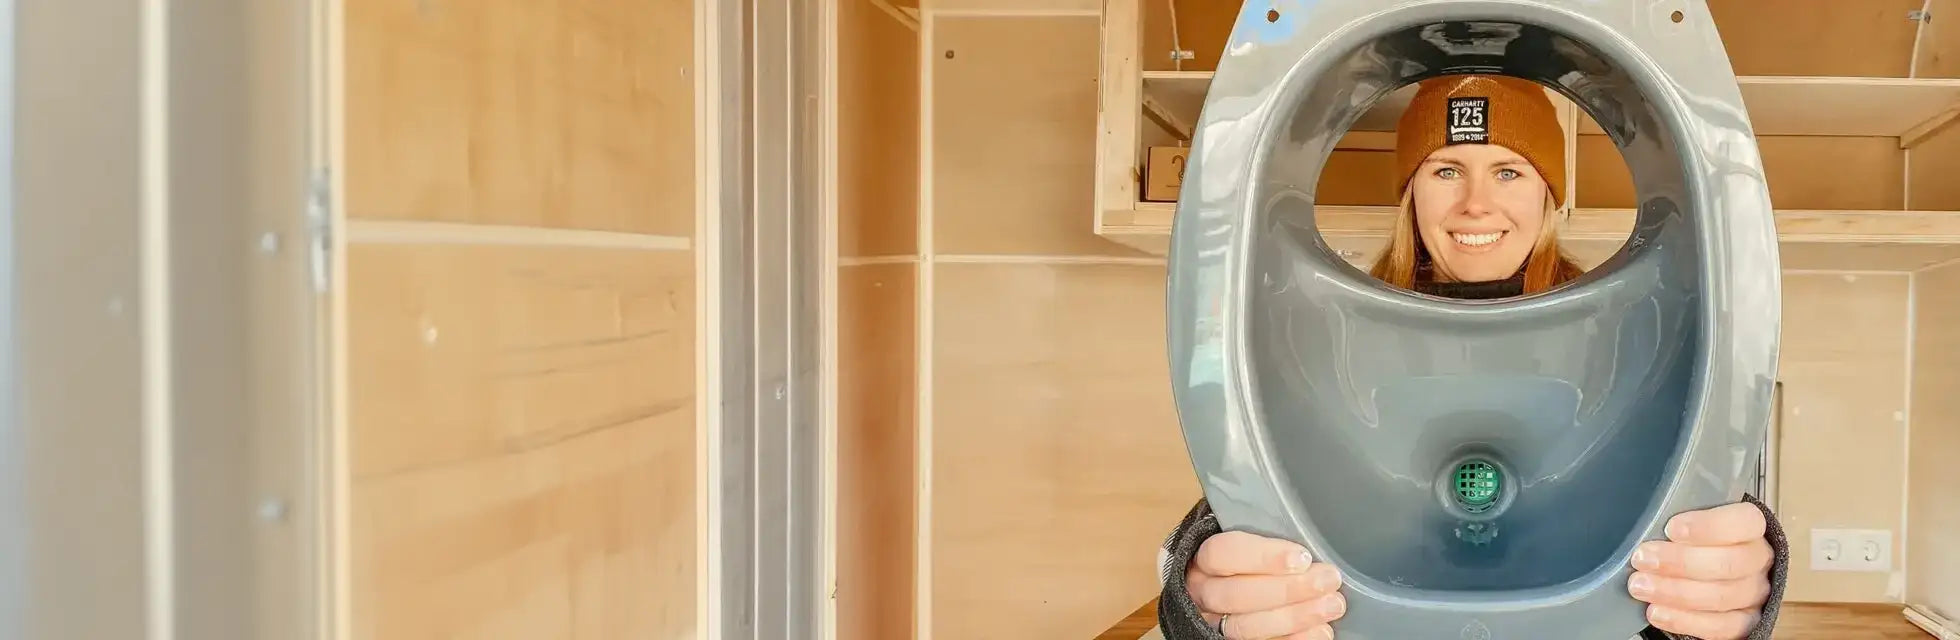
[[[919,33],[837,0],[837,638],[913,638]]]

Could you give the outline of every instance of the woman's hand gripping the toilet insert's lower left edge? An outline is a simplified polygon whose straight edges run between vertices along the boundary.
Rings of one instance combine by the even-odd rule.
[[[1341,571],[1280,538],[1209,536],[1184,581],[1205,622],[1229,640],[1331,640],[1329,622],[1347,613]]]

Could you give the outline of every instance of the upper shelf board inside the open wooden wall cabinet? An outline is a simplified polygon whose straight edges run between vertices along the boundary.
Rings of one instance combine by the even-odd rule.
[[[1960,115],[1960,80],[1952,78],[1742,76],[1737,84],[1756,135],[1901,137],[1903,149]],[[1198,121],[1209,86],[1209,70],[1143,72],[1147,104],[1184,123]],[[1396,131],[1413,92],[1403,86],[1382,98],[1352,131]],[[1580,117],[1580,133],[1603,131]]]

